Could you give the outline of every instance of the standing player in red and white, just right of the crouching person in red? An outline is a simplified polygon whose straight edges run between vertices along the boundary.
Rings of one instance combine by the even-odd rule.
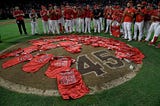
[[[133,8],[132,1],[127,3],[127,7],[123,13],[123,24],[124,24],[124,39],[128,39],[128,41],[132,41],[132,21],[134,16],[135,9]]]

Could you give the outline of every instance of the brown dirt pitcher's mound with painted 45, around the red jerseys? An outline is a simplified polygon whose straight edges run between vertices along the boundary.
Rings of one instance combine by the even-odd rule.
[[[75,39],[79,37],[81,38],[81,36],[78,35]],[[57,40],[58,38],[60,40]],[[85,35],[83,35],[83,38],[85,38]],[[99,40],[107,39],[94,36],[86,36],[86,38],[99,38]],[[59,44],[60,42],[65,41],[77,41],[72,35],[61,37],[43,37],[36,40],[47,41],[51,39],[55,39],[50,42],[53,44]],[[82,74],[83,81],[90,89],[89,94],[95,94],[97,92],[110,89],[130,80],[136,76],[142,66],[142,64],[136,64],[128,59],[117,58],[115,56],[115,50],[110,50],[100,46],[95,47],[91,44],[85,44],[82,41],[78,43],[81,44],[81,51],[79,53],[68,52],[64,49],[64,47],[59,46],[46,51],[35,51],[31,54],[36,55],[37,53],[46,53],[53,54],[54,56],[70,56],[75,59],[76,62],[72,64],[71,67],[76,68]],[[18,48],[23,49],[29,46],[32,46],[31,42],[19,43],[2,51],[1,54]],[[1,59],[0,65],[13,58],[15,57]],[[9,90],[21,93],[59,96],[56,79],[48,78],[45,75],[45,71],[49,67],[49,62],[35,73],[26,73],[22,70],[22,67],[28,62],[29,61],[22,62],[6,69],[1,67],[0,85]]]

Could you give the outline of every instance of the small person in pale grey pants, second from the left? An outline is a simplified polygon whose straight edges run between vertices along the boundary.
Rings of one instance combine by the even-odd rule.
[[[31,12],[29,13],[29,17],[31,19],[32,35],[38,34],[38,22],[37,22],[38,15],[34,9],[32,9]]]

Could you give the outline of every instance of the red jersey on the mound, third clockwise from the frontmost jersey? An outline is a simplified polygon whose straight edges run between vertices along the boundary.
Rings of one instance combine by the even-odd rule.
[[[25,64],[22,69],[25,72],[36,72],[47,64],[51,58],[53,58],[52,54],[37,55],[29,63]]]

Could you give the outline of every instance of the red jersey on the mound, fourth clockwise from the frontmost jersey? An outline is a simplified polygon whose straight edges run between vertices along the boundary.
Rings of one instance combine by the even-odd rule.
[[[15,57],[11,60],[6,61],[2,64],[2,68],[8,68],[16,64],[22,63],[24,61],[32,60],[33,56],[31,54],[23,54],[18,57]]]

